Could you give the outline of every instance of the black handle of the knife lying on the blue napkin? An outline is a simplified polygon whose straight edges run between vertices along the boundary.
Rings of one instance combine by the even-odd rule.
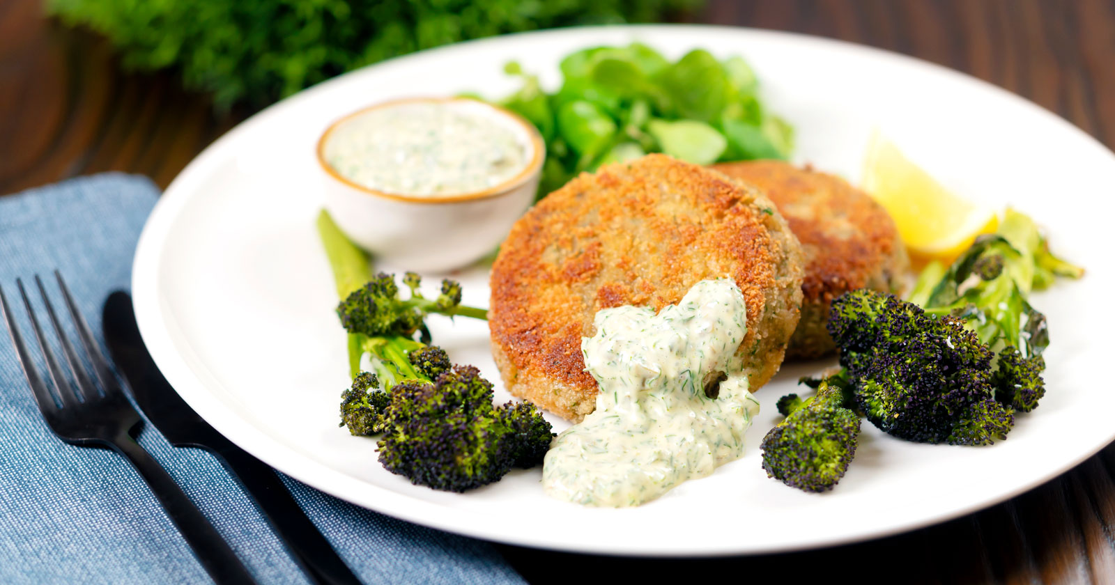
[[[209,450],[255,500],[310,581],[318,585],[360,585],[360,579],[310,521],[274,469],[231,442]]]

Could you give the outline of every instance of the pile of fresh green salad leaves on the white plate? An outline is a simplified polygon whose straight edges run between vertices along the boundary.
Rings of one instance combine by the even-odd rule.
[[[793,127],[759,103],[758,80],[740,57],[720,61],[698,49],[670,62],[638,42],[593,47],[562,60],[552,94],[517,62],[505,71],[523,85],[498,104],[546,140],[540,196],[578,173],[647,153],[708,165],[785,159],[794,148]]]

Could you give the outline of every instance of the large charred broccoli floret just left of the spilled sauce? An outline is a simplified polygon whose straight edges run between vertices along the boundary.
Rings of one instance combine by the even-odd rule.
[[[512,466],[539,460],[541,437],[550,430],[530,409],[496,409],[492,383],[468,365],[434,382],[400,382],[391,389],[379,461],[414,484],[446,491],[498,481]]]

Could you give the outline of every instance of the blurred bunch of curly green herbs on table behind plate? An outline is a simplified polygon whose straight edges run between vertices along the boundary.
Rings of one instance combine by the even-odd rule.
[[[47,0],[128,68],[176,68],[220,107],[265,106],[338,74],[467,39],[651,22],[700,0]]]

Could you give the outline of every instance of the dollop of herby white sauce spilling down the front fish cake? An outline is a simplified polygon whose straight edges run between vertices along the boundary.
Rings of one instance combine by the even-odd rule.
[[[698,282],[677,305],[604,309],[581,340],[597,410],[546,452],[546,494],[586,506],[638,506],[744,454],[758,412],[735,355],[747,332],[736,283]],[[705,387],[720,380],[717,398]]]

